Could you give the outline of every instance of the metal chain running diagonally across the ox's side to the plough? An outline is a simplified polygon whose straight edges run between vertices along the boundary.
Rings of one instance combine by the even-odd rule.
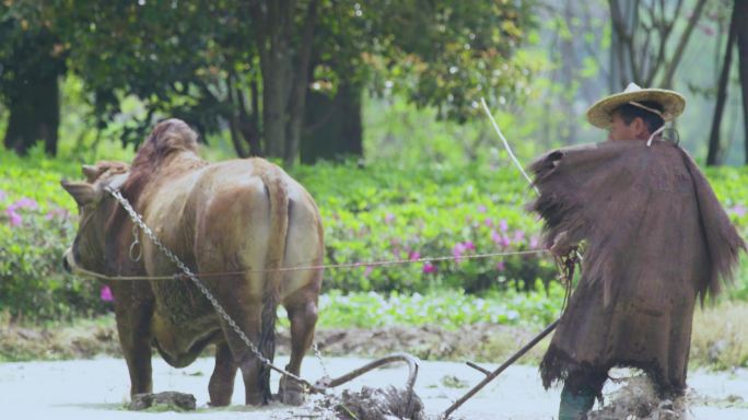
[[[151,242],[153,242],[153,244],[156,247],[159,247],[159,249],[161,249],[161,252],[164,253],[164,255],[166,255],[166,257],[168,257],[168,259],[171,259],[172,262],[174,262],[185,273],[185,276],[187,276],[192,281],[192,283],[195,283],[195,285],[200,290],[200,292],[202,292],[202,294],[206,295],[206,298],[208,298],[210,303],[215,308],[215,312],[218,312],[219,315],[221,315],[221,317],[231,326],[231,328],[236,332],[236,335],[242,339],[242,341],[244,341],[244,343],[247,346],[247,348],[249,348],[252,353],[262,364],[274,370],[276,372],[279,372],[283,375],[287,375],[287,376],[311,387],[314,390],[317,390],[317,392],[320,390],[318,387],[315,387],[309,382],[301,378],[300,376],[297,376],[291,372],[288,372],[284,369],[281,369],[281,368],[273,365],[270,360],[268,360],[265,355],[262,355],[262,353],[257,349],[257,347],[252,342],[252,340],[249,340],[249,337],[247,337],[246,334],[244,334],[242,328],[239,328],[239,326],[234,322],[234,319],[229,315],[229,313],[226,313],[226,311],[223,308],[223,306],[218,302],[215,296],[208,290],[208,288],[202,283],[202,281],[200,281],[200,279],[198,279],[198,277],[195,276],[195,273],[192,273],[192,271],[189,269],[189,267],[187,267],[176,255],[174,255],[174,253],[172,253],[159,240],[159,237],[153,233],[153,231],[151,231],[151,229],[148,225],[145,225],[145,223],[143,222],[140,214],[138,214],[138,212],[135,211],[132,206],[130,206],[130,202],[125,197],[122,197],[122,195],[118,190],[116,190],[109,186],[105,187],[105,189],[115,199],[117,199],[117,201],[119,201],[119,203],[122,206],[125,211],[127,211],[127,213],[130,215],[130,219],[132,219],[132,222],[136,223],[143,231],[143,233],[145,233],[145,236],[148,236],[149,240],[151,240]]]

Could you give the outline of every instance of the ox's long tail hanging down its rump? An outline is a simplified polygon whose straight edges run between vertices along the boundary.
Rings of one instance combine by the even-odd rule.
[[[283,272],[276,269],[283,267],[285,238],[289,230],[289,192],[280,168],[269,164],[261,174],[266,192],[270,202],[270,238],[268,243],[265,268],[262,312],[259,350],[272,361],[276,352],[276,318],[280,300],[280,287]],[[266,402],[272,398],[270,390],[270,369],[262,366],[262,393]]]

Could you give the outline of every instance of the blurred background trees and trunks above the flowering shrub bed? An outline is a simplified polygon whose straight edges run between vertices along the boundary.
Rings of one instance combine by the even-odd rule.
[[[746,18],[740,0],[3,0],[0,129],[21,154],[62,133],[73,159],[173,116],[287,165],[490,160],[481,96],[530,155],[600,140],[586,107],[633,81],[685,93],[682,144],[736,164]]]

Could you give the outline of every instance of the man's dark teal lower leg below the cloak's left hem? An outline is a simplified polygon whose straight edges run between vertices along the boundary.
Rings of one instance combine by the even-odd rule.
[[[603,392],[607,376],[596,372],[570,373],[561,390],[559,420],[585,420],[595,398]]]

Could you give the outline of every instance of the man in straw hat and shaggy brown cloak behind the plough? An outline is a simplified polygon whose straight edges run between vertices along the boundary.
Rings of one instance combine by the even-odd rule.
[[[598,101],[587,119],[608,141],[554,150],[533,165],[545,244],[583,244],[582,276],[540,364],[562,381],[559,419],[585,419],[613,366],[681,395],[698,300],[720,291],[745,243],[693,160],[659,136],[685,98],[641,89]]]

